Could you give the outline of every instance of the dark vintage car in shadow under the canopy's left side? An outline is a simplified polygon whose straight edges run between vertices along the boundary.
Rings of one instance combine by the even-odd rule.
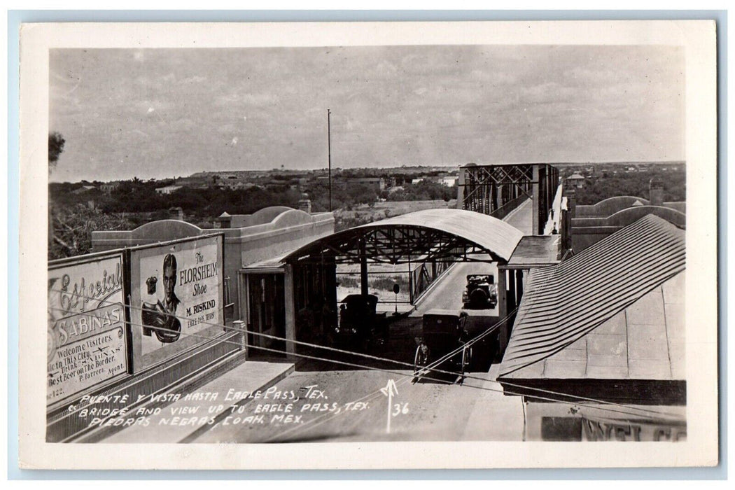
[[[341,301],[339,321],[331,332],[331,344],[347,350],[368,350],[388,338],[387,315],[376,313],[376,295],[347,295]]]

